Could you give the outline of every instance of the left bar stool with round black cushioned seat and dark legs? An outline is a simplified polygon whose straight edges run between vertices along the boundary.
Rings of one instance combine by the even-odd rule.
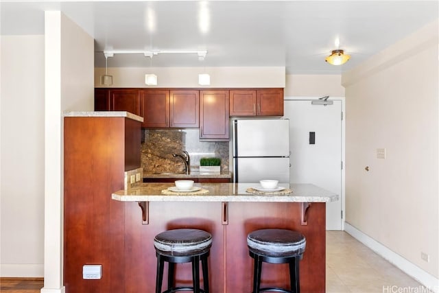
[[[156,293],[162,293],[163,268],[168,263],[167,290],[163,293],[193,291],[209,293],[207,257],[212,246],[212,235],[198,229],[180,228],[162,232],[154,237],[157,257]],[[200,289],[200,261],[203,274],[203,290]],[[192,263],[193,287],[175,287],[175,263]]]

